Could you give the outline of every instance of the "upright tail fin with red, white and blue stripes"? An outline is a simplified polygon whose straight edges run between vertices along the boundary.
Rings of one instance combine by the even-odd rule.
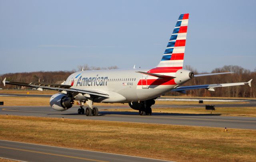
[[[181,69],[183,67],[188,15],[189,14],[180,15],[164,51],[164,55],[160,63],[156,66],[157,68]]]

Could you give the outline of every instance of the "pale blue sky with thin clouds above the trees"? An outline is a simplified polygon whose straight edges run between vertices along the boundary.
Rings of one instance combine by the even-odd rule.
[[[256,1],[0,0],[0,74],[158,64],[189,13],[184,64],[256,68]]]

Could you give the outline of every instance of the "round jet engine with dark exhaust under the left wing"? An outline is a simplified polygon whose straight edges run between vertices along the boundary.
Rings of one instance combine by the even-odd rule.
[[[50,98],[50,105],[54,110],[65,111],[72,107],[74,100],[64,94],[54,94]]]

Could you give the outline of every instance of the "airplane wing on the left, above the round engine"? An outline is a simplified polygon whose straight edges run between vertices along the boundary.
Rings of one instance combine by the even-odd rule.
[[[95,90],[79,90],[79,89],[71,88],[72,86],[70,85],[64,85],[64,84],[52,84],[52,83],[41,83],[41,82],[31,82],[31,83],[12,82],[12,81],[9,82],[9,81],[6,81],[6,78],[4,78],[3,83],[4,83],[4,86],[5,84],[12,84],[17,86],[33,87],[39,91],[42,91],[43,89],[47,89],[47,90],[57,90],[64,94],[66,94],[67,92],[71,92],[71,93],[90,94],[92,96],[109,98],[109,95],[104,92],[95,91]]]

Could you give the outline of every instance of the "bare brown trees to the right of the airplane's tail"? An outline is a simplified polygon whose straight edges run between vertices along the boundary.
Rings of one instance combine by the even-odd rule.
[[[191,66],[185,67],[187,70],[193,71],[195,74],[198,73],[196,69]],[[233,72],[232,74],[222,74],[213,76],[200,76],[194,77],[190,81],[186,82],[184,86],[191,85],[204,85],[204,84],[222,84],[222,83],[234,83],[234,82],[248,82],[252,79],[251,87],[248,85],[244,86],[230,86],[230,87],[219,87],[214,88],[215,91],[209,91],[206,89],[188,90],[186,94],[180,94],[178,92],[168,92],[166,95],[170,96],[192,96],[192,97],[243,97],[243,98],[255,98],[256,97],[256,69],[250,71],[242,68],[241,66],[228,65],[221,68],[215,68],[211,73],[218,72]]]

